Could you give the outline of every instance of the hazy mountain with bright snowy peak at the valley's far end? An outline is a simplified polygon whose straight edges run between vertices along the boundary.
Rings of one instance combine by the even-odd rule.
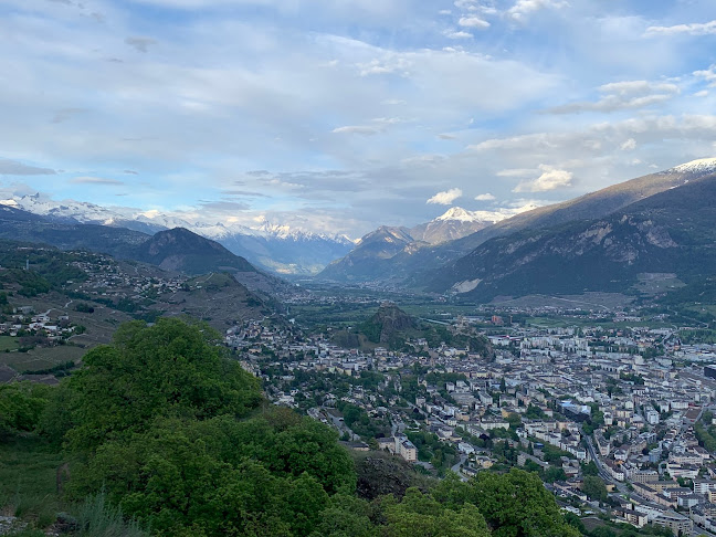
[[[412,229],[382,225],[365,235],[356,248],[329,264],[318,277],[338,282],[388,281],[393,276],[390,260],[396,256],[410,256],[431,245],[454,241],[503,218],[507,215],[453,207],[436,219]]]

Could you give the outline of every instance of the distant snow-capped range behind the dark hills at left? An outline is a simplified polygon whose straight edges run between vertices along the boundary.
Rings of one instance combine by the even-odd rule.
[[[185,228],[280,274],[317,274],[331,261],[346,255],[355,245],[345,235],[312,233],[265,221],[254,228],[238,223],[190,221],[156,211],[107,208],[74,200],[57,202],[41,194],[13,197],[0,200],[0,204],[57,222],[125,228],[147,234]]]

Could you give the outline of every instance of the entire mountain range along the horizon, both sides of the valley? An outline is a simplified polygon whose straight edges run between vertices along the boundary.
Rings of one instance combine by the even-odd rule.
[[[414,228],[378,228],[317,278],[453,293],[474,301],[535,293],[634,293],[644,278],[675,281],[693,294],[709,288],[716,266],[714,199],[716,159],[702,159],[512,218],[455,207]],[[39,196],[4,200],[0,238],[88,249],[189,274],[229,271],[267,292],[285,285],[235,254],[252,250],[256,255],[257,234],[242,235],[221,224],[194,223],[203,236],[183,227],[162,229],[182,221],[159,214],[94,223],[112,211],[73,203],[53,208]],[[291,265],[301,273],[312,266],[315,272],[320,266],[316,260],[336,255],[329,245],[335,238],[322,243],[317,235],[301,239],[288,228],[271,229],[273,236],[291,240],[295,251],[286,242],[281,253],[266,246],[260,267],[281,272],[277,267]],[[223,245],[207,235],[221,235]],[[249,248],[250,241],[256,242]]]

